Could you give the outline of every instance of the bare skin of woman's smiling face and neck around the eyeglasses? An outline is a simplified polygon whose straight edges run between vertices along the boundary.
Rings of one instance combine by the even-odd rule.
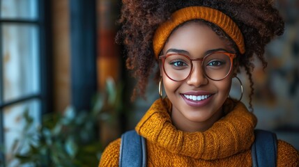
[[[162,49],[163,54],[179,53],[190,58],[203,58],[214,50],[232,52],[225,40],[200,22],[188,22],[176,29]],[[162,80],[172,103],[171,119],[183,131],[205,131],[222,117],[222,104],[231,88],[232,72],[220,81],[205,76],[201,61],[192,61],[193,70],[187,79],[173,81],[165,74]],[[198,97],[198,100],[193,100]],[[200,96],[200,97],[199,97]],[[204,97],[204,100],[199,100]]]

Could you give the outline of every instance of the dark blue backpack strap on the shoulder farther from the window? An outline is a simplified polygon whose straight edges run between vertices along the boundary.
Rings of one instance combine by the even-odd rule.
[[[254,130],[252,144],[252,166],[276,166],[277,137],[276,134],[261,129]]]

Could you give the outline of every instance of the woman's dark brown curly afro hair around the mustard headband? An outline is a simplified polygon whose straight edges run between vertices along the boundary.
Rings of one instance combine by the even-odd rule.
[[[187,6],[206,6],[220,10],[239,26],[246,51],[242,56],[238,55],[238,67],[243,67],[250,79],[252,107],[254,54],[263,63],[263,67],[266,67],[267,62],[263,56],[265,46],[275,35],[282,35],[284,32],[282,17],[273,8],[272,1],[267,0],[123,0],[121,18],[118,20],[122,27],[116,35],[116,42],[125,45],[128,56],[126,66],[132,70],[133,77],[137,78],[133,97],[144,97],[148,77],[158,63],[153,54],[155,30],[169,19],[171,13]],[[215,32],[219,30],[213,24],[208,26]],[[223,32],[216,33],[221,35]],[[159,76],[159,70],[156,72],[156,76]]]

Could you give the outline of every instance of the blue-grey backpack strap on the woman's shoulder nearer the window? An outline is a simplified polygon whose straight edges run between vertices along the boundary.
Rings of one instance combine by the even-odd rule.
[[[146,167],[146,140],[135,130],[121,135],[119,166]]]

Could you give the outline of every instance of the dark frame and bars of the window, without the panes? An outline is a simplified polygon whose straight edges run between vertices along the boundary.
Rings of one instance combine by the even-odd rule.
[[[45,113],[52,112],[52,4],[50,1],[37,1],[38,17],[35,20],[31,19],[2,19],[0,17],[0,145],[5,143],[3,133],[3,109],[7,106],[13,106],[21,102],[29,100],[40,101],[40,116]],[[0,3],[1,8],[1,3]],[[9,102],[3,102],[3,48],[2,48],[2,25],[7,23],[13,24],[31,24],[38,27],[38,42],[39,42],[39,84],[40,91],[31,95],[22,96]],[[40,118],[41,120],[42,118]],[[5,166],[5,154],[0,152],[0,161]]]

